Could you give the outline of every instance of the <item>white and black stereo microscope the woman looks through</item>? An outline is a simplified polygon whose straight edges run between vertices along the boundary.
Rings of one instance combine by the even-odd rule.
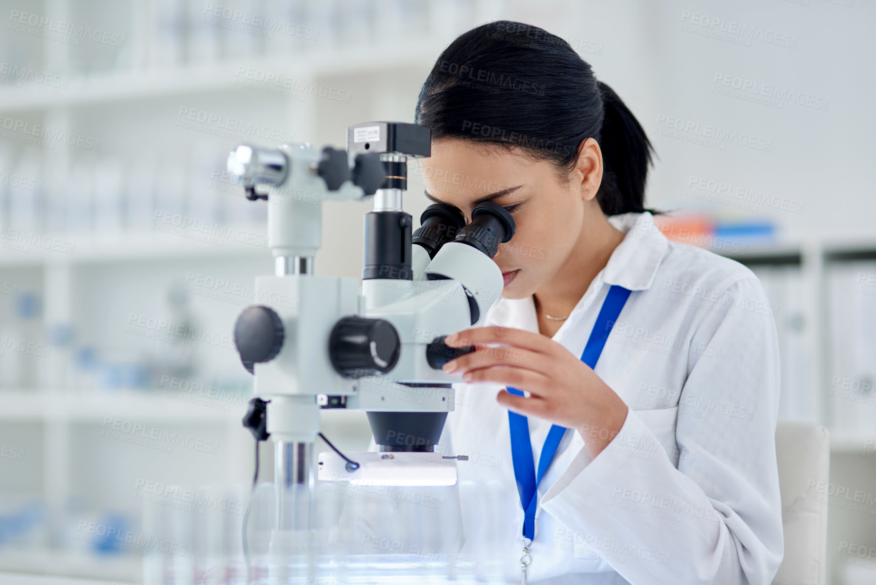
[[[247,198],[268,205],[275,271],[258,277],[256,291],[271,303],[246,308],[234,339],[258,396],[244,424],[274,442],[280,530],[307,527],[307,512],[285,498],[312,497],[321,409],[364,410],[379,446],[321,453],[321,481],[456,483],[456,458],[434,453],[459,382],[441,367],[475,348],[443,340],[477,325],[498,299],[503,280],[492,258],[515,225],[495,203],[478,205],[468,225],[460,210],[436,203],[413,231],[402,210],[407,161],[429,156],[430,140],[424,126],[367,122],[348,128],[346,151],[242,144],[229,155]],[[315,275],[322,203],[369,197],[361,288],[357,279]]]

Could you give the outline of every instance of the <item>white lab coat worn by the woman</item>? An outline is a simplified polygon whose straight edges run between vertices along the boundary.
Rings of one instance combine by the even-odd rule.
[[[776,310],[748,268],[668,242],[650,213],[609,219],[627,235],[554,339],[580,357],[610,285],[631,289],[596,367],[629,414],[595,460],[566,432],[538,490],[529,582],[769,583],[783,553]],[[532,297],[500,299],[483,325],[538,332]],[[500,388],[456,385],[436,450],[470,456],[457,464],[463,485],[492,482],[498,562],[519,582],[523,511]],[[529,417],[529,428],[537,466],[550,424]],[[484,489],[463,491],[463,523],[484,517]]]

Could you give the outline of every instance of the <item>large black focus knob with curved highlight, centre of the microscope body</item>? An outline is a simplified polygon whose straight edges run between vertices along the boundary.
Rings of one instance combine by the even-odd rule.
[[[381,375],[399,361],[401,339],[384,319],[343,317],[329,335],[329,357],[345,378]]]

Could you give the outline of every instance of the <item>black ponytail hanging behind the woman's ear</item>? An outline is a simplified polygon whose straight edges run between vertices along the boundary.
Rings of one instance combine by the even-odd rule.
[[[597,82],[604,118],[597,139],[603,153],[603,180],[597,201],[605,215],[645,211],[645,182],[653,146],[632,111],[604,82]]]

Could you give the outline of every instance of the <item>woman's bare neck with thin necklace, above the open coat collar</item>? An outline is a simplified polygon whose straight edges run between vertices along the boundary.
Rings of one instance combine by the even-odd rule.
[[[533,295],[539,331],[548,337],[554,337],[562,321],[548,319],[545,315],[569,315],[625,238],[626,234],[611,225],[601,210],[597,208],[595,211],[585,216],[581,235],[554,278]]]

